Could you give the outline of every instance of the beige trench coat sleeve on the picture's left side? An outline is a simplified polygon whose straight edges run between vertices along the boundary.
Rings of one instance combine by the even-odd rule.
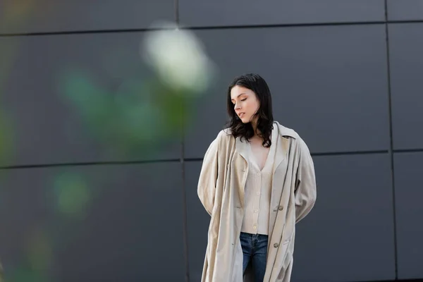
[[[214,207],[214,195],[216,191],[217,171],[219,169],[219,140],[216,138],[209,145],[200,171],[197,194],[206,211],[212,215]]]

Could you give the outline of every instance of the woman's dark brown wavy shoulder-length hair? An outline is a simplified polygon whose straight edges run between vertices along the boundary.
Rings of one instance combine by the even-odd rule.
[[[235,109],[231,101],[231,90],[235,87],[235,85],[248,88],[249,90],[252,90],[252,92],[255,92],[257,99],[259,100],[259,110],[255,116],[253,116],[253,118],[257,117],[257,135],[263,138],[264,147],[270,147],[271,130],[273,129],[274,118],[269,86],[260,75],[247,73],[234,78],[228,87],[227,110],[230,121],[228,121],[227,126],[231,129],[233,137],[236,138],[240,136],[241,139],[245,138],[247,141],[250,141],[255,133],[252,128],[252,124],[243,123],[243,121],[241,121],[235,113]]]

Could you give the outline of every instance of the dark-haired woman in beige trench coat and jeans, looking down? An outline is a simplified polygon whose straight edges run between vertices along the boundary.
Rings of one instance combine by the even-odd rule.
[[[288,282],[295,223],[316,201],[312,157],[294,130],[273,120],[259,75],[235,78],[227,100],[229,127],[207,149],[198,183],[212,216],[202,281]]]

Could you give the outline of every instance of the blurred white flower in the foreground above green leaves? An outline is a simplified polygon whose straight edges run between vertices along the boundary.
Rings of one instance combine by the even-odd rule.
[[[160,28],[164,30],[147,32],[142,56],[171,87],[203,92],[212,80],[214,65],[205,54],[202,42],[190,30],[177,30],[168,23],[161,24]]]

